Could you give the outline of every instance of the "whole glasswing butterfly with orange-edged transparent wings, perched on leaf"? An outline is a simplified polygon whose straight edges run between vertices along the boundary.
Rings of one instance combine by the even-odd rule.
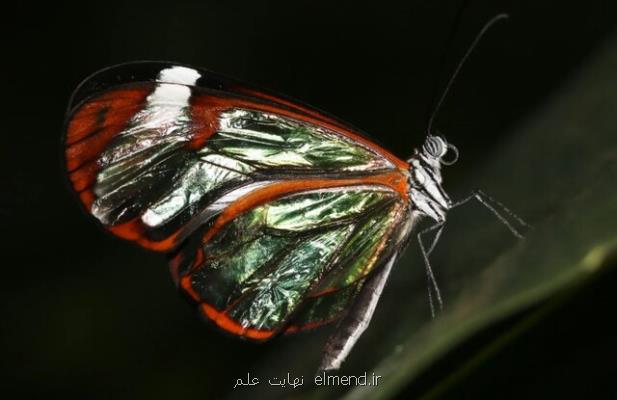
[[[338,368],[368,326],[418,219],[436,222],[417,235],[433,313],[428,255],[449,209],[476,199],[515,235],[496,207],[524,224],[482,192],[450,200],[441,166],[458,152],[440,136],[405,161],[315,108],[186,65],[91,75],[64,140],[85,210],[169,254],[174,282],[214,325],[265,341],[340,320],[322,369]]]

